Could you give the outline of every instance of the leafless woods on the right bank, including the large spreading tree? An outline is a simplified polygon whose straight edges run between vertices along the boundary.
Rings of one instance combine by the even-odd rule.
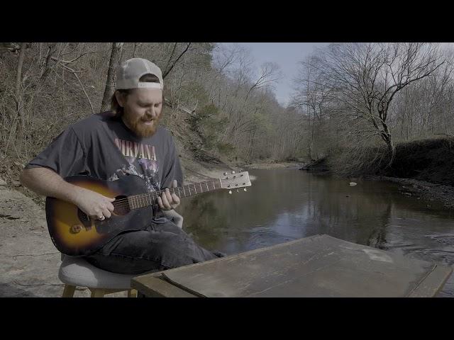
[[[301,61],[306,145],[345,174],[391,166],[396,143],[450,135],[453,53],[435,43],[330,44]],[[438,123],[436,123],[438,122]]]

